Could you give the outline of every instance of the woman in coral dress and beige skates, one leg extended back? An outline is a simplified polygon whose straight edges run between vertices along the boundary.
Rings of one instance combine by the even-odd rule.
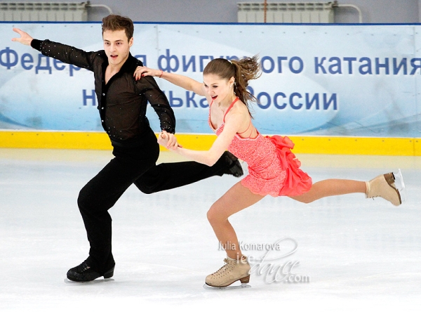
[[[250,265],[239,249],[239,241],[228,218],[261,200],[265,195],[288,196],[309,203],[322,197],[349,193],[364,193],[366,197],[383,197],[398,206],[401,195],[394,184],[394,174],[383,174],[368,182],[327,179],[312,183],[300,169],[300,161],[291,149],[294,144],[286,136],[262,136],[253,126],[248,103],[255,100],[246,87],[250,79],[260,77],[258,58],[225,60],[217,58],[203,70],[203,82],[179,74],[138,67],[135,78],[154,76],[177,86],[206,96],[209,105],[209,126],[218,136],[210,150],[188,150],[180,145],[169,147],[191,160],[212,166],[225,150],[248,164],[248,176],[222,195],[208,211],[208,221],[221,246],[227,247],[225,265],[206,277],[212,287],[226,287],[240,280],[247,283]],[[166,146],[168,135],[159,136]]]

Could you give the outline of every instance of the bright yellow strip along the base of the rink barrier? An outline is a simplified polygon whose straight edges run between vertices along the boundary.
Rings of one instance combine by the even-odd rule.
[[[372,138],[339,136],[288,136],[293,152],[339,155],[420,156],[421,138]],[[177,134],[185,148],[207,150],[215,141],[213,134]],[[57,148],[111,150],[107,134],[78,131],[0,131],[0,148]],[[161,148],[161,150],[166,150]]]

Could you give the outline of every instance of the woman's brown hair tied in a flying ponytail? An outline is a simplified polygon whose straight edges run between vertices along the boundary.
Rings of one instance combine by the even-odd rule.
[[[204,74],[216,74],[221,79],[231,79],[234,77],[234,93],[241,102],[246,104],[250,112],[249,102],[257,101],[255,96],[248,92],[248,81],[258,79],[262,74],[258,62],[258,56],[243,58],[241,60],[225,60],[225,58],[215,58],[206,65]],[[251,115],[251,114],[250,114]]]

